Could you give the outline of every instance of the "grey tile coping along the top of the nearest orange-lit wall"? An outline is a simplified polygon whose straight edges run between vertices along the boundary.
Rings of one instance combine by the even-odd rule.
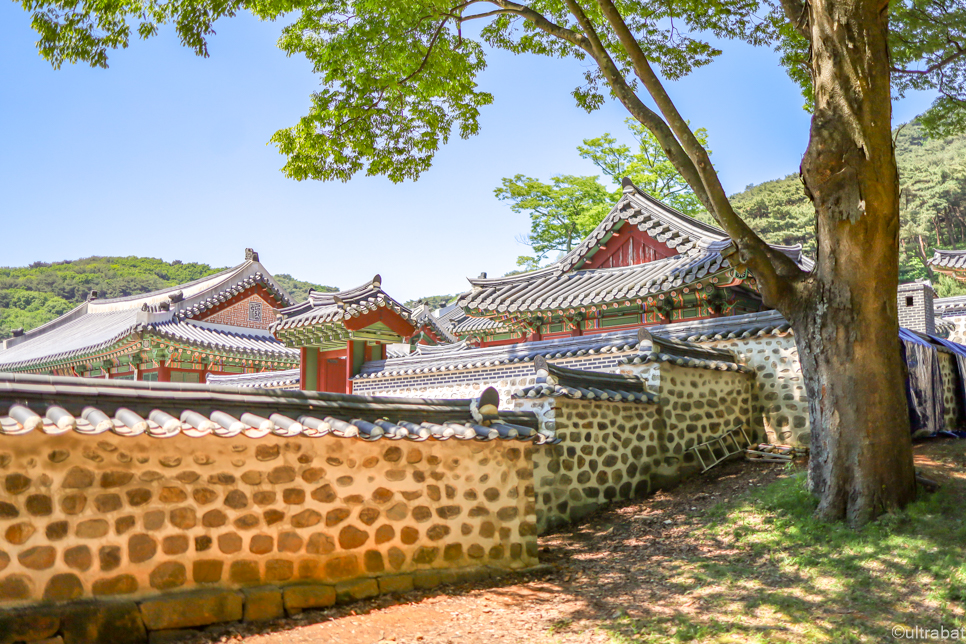
[[[0,435],[555,442],[533,413],[500,412],[498,403],[493,389],[478,399],[430,401],[0,373]]]

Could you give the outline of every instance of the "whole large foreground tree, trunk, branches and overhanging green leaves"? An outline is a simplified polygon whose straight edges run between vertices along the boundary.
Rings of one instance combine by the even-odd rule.
[[[279,45],[305,55],[322,85],[309,113],[272,139],[295,179],[415,179],[452,135],[479,132],[480,110],[493,100],[477,84],[487,48],[570,59],[584,73],[577,104],[593,111],[610,97],[654,135],[733,241],[735,264],[792,325],[810,399],[818,513],[861,524],[915,497],[895,306],[891,100],[934,89],[926,130],[966,127],[966,8],[941,0],[22,2],[54,65],[106,65],[109,49],[165,22],[205,54],[222,16],[291,13]],[[709,34],[778,49],[806,97],[812,124],[801,177],[818,251],[811,271],[739,216],[667,91],[721,53]]]

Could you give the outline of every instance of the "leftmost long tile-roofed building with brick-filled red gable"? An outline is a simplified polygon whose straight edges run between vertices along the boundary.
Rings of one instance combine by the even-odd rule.
[[[86,302],[0,348],[0,371],[203,383],[207,374],[292,369],[299,352],[268,331],[291,296],[247,249],[245,261],[188,284]]]

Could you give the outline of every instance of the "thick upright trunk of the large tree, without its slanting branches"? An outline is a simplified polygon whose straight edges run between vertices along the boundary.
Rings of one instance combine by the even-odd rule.
[[[882,0],[812,0],[815,113],[802,178],[818,263],[793,304],[819,515],[854,525],[915,497],[896,288],[899,188]]]

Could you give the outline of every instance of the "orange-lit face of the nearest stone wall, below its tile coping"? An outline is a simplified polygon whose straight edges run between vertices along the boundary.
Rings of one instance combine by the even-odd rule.
[[[0,606],[530,566],[533,450],[332,435],[7,436]]]

